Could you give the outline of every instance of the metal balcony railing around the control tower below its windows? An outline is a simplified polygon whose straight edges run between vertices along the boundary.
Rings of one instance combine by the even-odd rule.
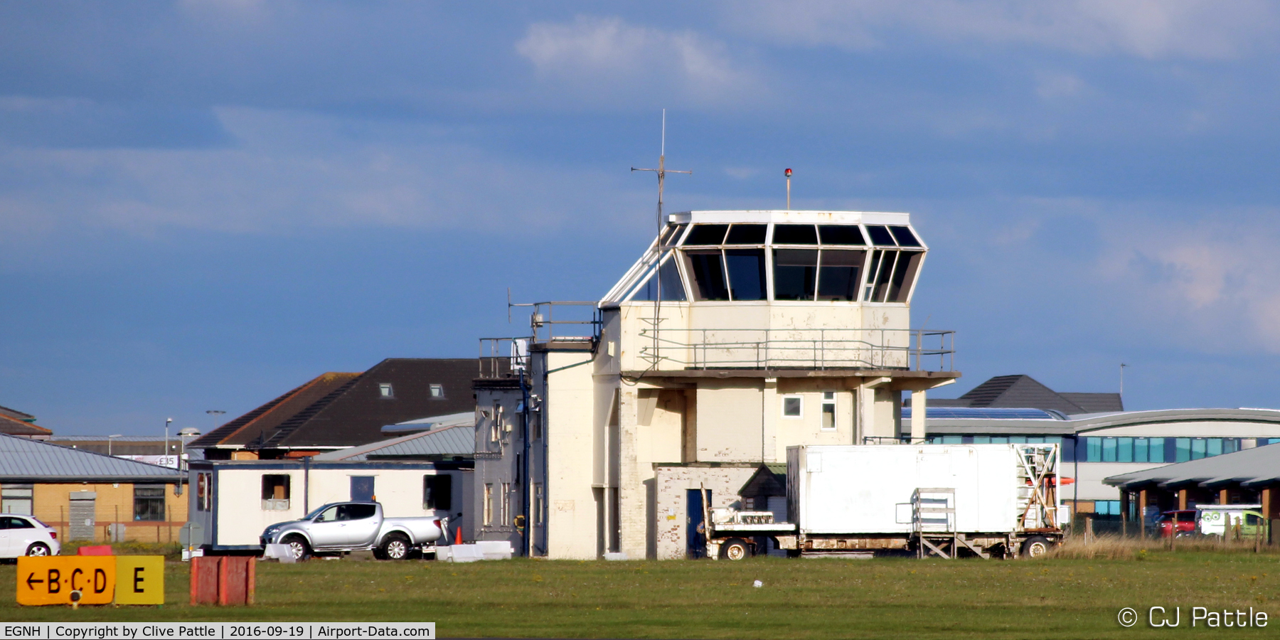
[[[947,330],[645,328],[636,342],[653,369],[955,370]]]

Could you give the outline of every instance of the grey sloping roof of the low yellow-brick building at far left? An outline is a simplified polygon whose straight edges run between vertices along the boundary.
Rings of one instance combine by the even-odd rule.
[[[183,476],[173,468],[5,434],[0,434],[0,479],[5,481],[183,481]]]

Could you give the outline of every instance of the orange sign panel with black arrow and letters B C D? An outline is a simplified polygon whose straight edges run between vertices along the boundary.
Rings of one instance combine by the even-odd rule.
[[[65,556],[18,558],[18,604],[110,604],[115,595],[115,558]]]

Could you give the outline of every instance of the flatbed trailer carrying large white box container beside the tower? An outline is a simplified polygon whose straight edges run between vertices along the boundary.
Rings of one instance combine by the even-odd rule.
[[[788,447],[787,521],[707,509],[707,556],[1041,556],[1069,521],[1059,468],[1056,444]]]

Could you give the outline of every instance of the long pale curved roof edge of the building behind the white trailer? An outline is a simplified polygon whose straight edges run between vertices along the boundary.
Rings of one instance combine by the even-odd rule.
[[[1272,408],[1166,408],[1157,411],[1117,411],[1085,413],[1068,420],[969,420],[925,419],[925,433],[940,434],[1088,434],[1100,429],[1153,422],[1274,422],[1280,410]],[[1204,434],[1212,435],[1212,434]]]

